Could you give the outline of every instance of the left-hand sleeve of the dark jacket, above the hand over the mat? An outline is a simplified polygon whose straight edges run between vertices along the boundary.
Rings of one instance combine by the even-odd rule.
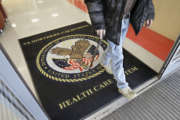
[[[91,23],[95,29],[105,29],[104,6],[102,0],[85,0]]]

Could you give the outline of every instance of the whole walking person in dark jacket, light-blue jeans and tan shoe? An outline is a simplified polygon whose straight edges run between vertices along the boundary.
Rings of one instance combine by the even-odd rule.
[[[119,93],[134,98],[136,93],[129,87],[124,73],[122,46],[129,23],[136,35],[143,26],[152,24],[155,14],[152,0],[85,0],[85,4],[97,35],[109,43],[101,65],[110,71],[110,64]]]

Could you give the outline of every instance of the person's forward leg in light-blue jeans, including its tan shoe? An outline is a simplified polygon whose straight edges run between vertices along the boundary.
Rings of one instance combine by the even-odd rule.
[[[126,37],[126,33],[129,27],[129,19],[122,20],[122,27],[121,27],[121,37],[120,37],[120,45],[116,46],[113,53],[113,61],[112,61],[112,71],[114,73],[114,77],[117,80],[117,87],[118,91],[127,97],[128,99],[132,99],[136,97],[136,93],[131,90],[126,82],[126,77],[124,74],[123,68],[123,41]]]

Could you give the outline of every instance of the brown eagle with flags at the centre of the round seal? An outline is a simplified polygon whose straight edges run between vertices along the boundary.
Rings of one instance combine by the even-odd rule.
[[[88,40],[78,40],[71,48],[56,47],[51,50],[51,54],[59,56],[69,56],[66,59],[53,59],[53,62],[65,70],[89,69],[92,62],[92,56],[95,54],[95,60],[99,57],[99,51],[96,46],[91,45]]]

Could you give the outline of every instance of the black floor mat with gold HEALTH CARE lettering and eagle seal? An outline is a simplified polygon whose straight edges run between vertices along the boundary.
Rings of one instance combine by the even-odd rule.
[[[113,76],[99,64],[107,43],[102,41],[98,50],[97,43],[86,22],[20,39],[39,98],[52,120],[79,120],[121,96]],[[125,50],[124,68],[132,88],[157,75]]]

